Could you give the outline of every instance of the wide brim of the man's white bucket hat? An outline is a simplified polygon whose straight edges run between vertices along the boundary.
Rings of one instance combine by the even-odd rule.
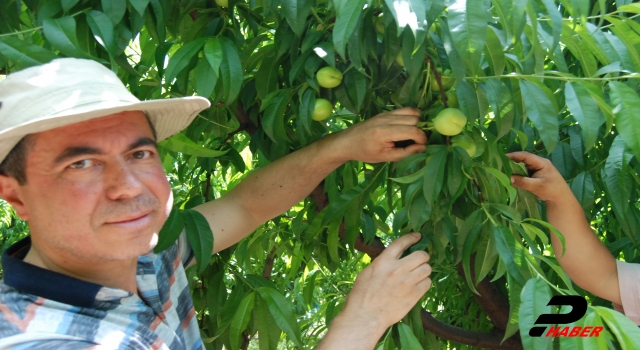
[[[162,141],[189,126],[196,116],[209,106],[209,100],[199,96],[75,106],[70,110],[32,120],[0,133],[0,162],[26,135],[125,111],[146,113],[156,129],[157,141]]]

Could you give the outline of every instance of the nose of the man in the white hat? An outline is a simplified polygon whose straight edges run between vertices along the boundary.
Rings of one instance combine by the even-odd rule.
[[[143,184],[133,166],[125,160],[106,169],[107,197],[111,200],[135,198],[142,193]]]

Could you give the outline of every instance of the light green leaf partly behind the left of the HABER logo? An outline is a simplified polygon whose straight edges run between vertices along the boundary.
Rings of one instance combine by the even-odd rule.
[[[551,306],[547,306],[551,300],[551,291],[545,281],[532,278],[527,281],[520,294],[520,312],[518,322],[520,324],[520,337],[525,349],[547,349],[553,338],[531,337],[529,330],[535,326],[535,321],[542,314],[550,314]],[[543,325],[544,326],[544,325]]]

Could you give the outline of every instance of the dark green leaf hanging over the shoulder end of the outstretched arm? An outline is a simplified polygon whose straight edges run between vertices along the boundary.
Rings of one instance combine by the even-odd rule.
[[[197,271],[201,274],[209,265],[213,254],[213,232],[207,219],[199,212],[187,209],[182,215],[187,229],[187,240],[196,258]]]

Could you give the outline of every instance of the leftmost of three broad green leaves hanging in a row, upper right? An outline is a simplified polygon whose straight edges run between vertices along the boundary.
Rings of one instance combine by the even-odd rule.
[[[551,91],[541,84],[520,81],[520,90],[527,116],[540,133],[548,153],[558,144],[558,106],[549,99]],[[545,91],[546,90],[546,91]]]

